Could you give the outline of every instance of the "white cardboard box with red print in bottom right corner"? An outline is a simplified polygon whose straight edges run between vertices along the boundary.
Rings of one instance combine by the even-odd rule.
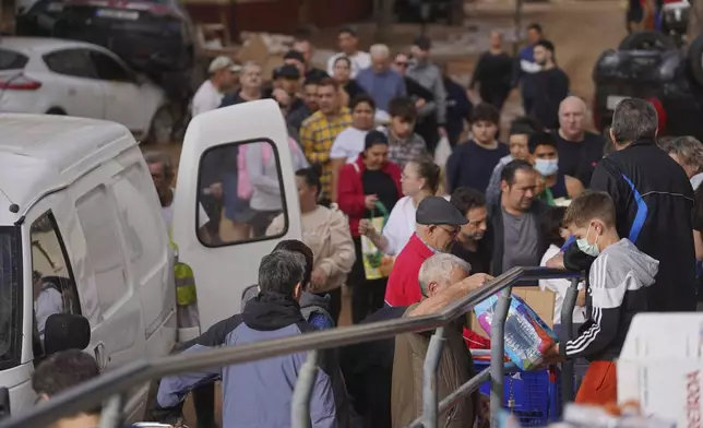
[[[617,361],[618,402],[678,427],[703,424],[703,313],[636,316]]]

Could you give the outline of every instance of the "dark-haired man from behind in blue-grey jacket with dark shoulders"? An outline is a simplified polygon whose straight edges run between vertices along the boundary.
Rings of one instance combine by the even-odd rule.
[[[183,354],[196,355],[218,346],[314,331],[305,321],[298,304],[303,276],[298,254],[282,250],[264,255],[259,266],[259,295],[242,313],[213,325]],[[195,384],[222,377],[224,428],[289,427],[293,391],[306,358],[306,353],[298,353],[167,377],[162,379],[156,402],[162,409],[177,406]],[[348,417],[348,400],[336,356],[323,352],[310,401],[311,426],[346,427]]]

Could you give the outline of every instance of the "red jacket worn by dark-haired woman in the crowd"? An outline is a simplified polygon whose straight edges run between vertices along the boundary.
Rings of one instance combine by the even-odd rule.
[[[366,194],[364,194],[364,183],[361,182],[361,175],[365,169],[364,157],[359,155],[354,164],[346,164],[339,169],[339,179],[337,180],[337,204],[339,210],[349,216],[349,228],[352,229],[352,236],[355,238],[359,237],[359,221],[364,218],[364,213],[366,212],[364,202]],[[383,166],[383,173],[391,176],[397,188],[398,198],[402,197],[401,167],[397,164],[388,162]],[[386,206],[386,209],[390,212],[393,206]]]

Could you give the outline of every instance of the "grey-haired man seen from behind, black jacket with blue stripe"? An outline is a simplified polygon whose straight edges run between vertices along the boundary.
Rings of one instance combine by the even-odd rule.
[[[620,102],[610,128],[617,152],[598,163],[591,189],[612,198],[618,234],[659,261],[648,309],[694,311],[693,189],[683,169],[656,145],[657,126],[648,102]]]

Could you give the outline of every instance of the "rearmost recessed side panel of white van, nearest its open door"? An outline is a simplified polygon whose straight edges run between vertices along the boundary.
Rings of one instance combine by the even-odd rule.
[[[151,177],[141,164],[134,164],[115,176],[112,192],[117,201],[122,230],[127,241],[127,257],[134,281],[143,284],[154,274],[168,241],[151,239],[153,230],[164,227],[164,221],[155,212],[153,201],[144,194],[143,183],[151,183]]]

